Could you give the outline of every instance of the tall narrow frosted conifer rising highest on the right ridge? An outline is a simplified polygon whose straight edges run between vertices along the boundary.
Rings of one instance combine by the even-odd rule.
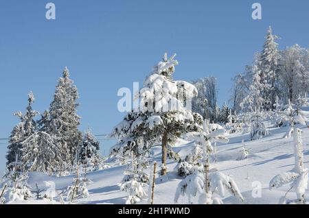
[[[262,83],[262,97],[264,99],[263,108],[265,110],[273,110],[276,97],[276,78],[278,70],[279,52],[277,50],[278,44],[275,40],[278,37],[273,35],[271,26],[268,28],[266,41],[263,46],[260,59],[261,69],[261,83]]]

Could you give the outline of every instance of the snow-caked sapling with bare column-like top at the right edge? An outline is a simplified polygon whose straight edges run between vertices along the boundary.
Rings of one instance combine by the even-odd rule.
[[[287,199],[286,195],[280,199],[281,204],[306,204],[305,193],[308,186],[308,169],[304,168],[303,145],[301,141],[301,130],[295,128],[293,131],[295,167],[291,171],[276,175],[269,183],[269,189],[277,189],[285,184],[290,184],[297,199]]]

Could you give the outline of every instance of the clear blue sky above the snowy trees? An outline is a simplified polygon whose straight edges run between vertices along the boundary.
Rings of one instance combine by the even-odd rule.
[[[308,47],[309,1],[260,1],[262,20],[251,19],[255,1],[54,0],[56,20],[45,19],[49,1],[0,1],[0,138],[25,110],[49,107],[58,77],[68,66],[78,86],[81,130],[111,131],[124,114],[117,90],[142,82],[163,53],[177,53],[177,80],[214,75],[218,99],[229,99],[231,77],[262,49],[268,25],[279,47]],[[0,142],[3,143],[3,142]],[[108,146],[108,145],[106,145]],[[0,148],[2,171],[5,146]]]

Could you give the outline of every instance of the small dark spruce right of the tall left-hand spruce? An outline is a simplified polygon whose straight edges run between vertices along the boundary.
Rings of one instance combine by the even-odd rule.
[[[100,164],[100,156],[98,150],[100,149],[100,142],[92,134],[91,130],[88,129],[84,133],[82,139],[82,146],[80,148],[80,162],[87,167],[93,167],[96,169]]]

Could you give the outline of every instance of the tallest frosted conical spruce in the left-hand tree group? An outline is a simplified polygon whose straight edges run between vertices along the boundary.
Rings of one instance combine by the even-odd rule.
[[[50,104],[48,118],[45,117],[41,123],[48,134],[58,138],[57,144],[60,143],[60,158],[64,164],[59,166],[59,171],[66,171],[73,165],[78,146],[82,143],[82,133],[78,130],[80,117],[76,112],[78,98],[78,90],[65,67]]]

